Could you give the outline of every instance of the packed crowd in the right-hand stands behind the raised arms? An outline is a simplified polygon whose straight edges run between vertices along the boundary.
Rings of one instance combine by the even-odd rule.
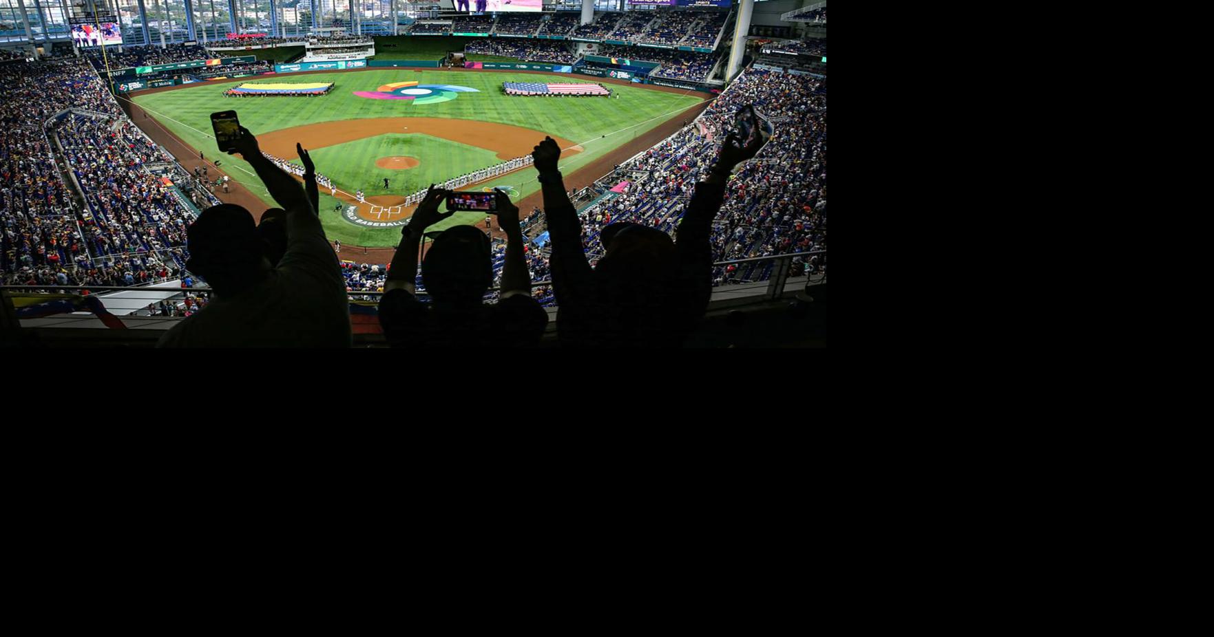
[[[622,197],[588,207],[582,222],[588,255],[602,255],[599,233],[613,222],[636,222],[669,232],[677,226],[685,201],[694,192],[734,121],[736,110],[754,104],[776,119],[775,135],[756,160],[730,182],[731,195],[711,234],[713,261],[771,256],[826,249],[826,80],[810,75],[749,69],[738,76],[700,118],[704,130],[683,129],[651,148],[624,171],[651,177]],[[703,133],[702,133],[703,132]],[[826,260],[795,257],[801,272],[821,273]],[[713,283],[760,280],[771,263],[716,268]]]

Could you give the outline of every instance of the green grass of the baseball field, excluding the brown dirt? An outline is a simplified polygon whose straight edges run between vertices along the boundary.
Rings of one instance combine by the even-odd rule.
[[[256,81],[296,81],[291,75],[259,79]],[[418,80],[421,84],[454,84],[477,89],[481,92],[459,93],[453,101],[435,104],[414,104],[410,101],[367,99],[353,95],[354,91],[374,91],[384,84]],[[510,124],[535,130],[535,141],[544,135],[556,135],[583,144],[582,153],[562,155],[561,170],[572,174],[609,150],[636,138],[639,135],[658,126],[665,120],[681,116],[690,107],[700,102],[698,93],[676,95],[653,91],[636,86],[613,85],[611,89],[620,96],[614,98],[586,97],[509,97],[501,95],[504,81],[592,81],[594,78],[568,74],[533,73],[497,73],[497,72],[439,72],[414,69],[382,69],[354,73],[323,73],[300,75],[297,81],[331,81],[333,92],[322,97],[262,97],[227,98],[223,91],[231,84],[200,84],[188,89],[177,89],[159,93],[136,95],[135,103],[152,113],[163,126],[171,130],[186,143],[215,158],[220,153],[211,135],[210,114],[217,110],[236,109],[240,124],[261,135],[282,129],[302,126],[320,121],[390,118],[390,116],[426,116],[469,119]],[[606,137],[605,137],[606,136]],[[317,149],[318,152],[322,149]],[[418,157],[416,153],[405,153]],[[336,171],[351,169],[352,175],[365,175],[359,183],[345,183],[335,180],[339,188],[354,192],[362,188],[369,195],[382,194],[382,181],[379,188],[370,181],[375,171],[374,159],[368,157],[367,165],[333,161],[329,165],[317,157],[317,171],[334,175]],[[418,157],[422,165],[438,163],[442,158]],[[222,158],[227,174],[244,183],[253,193],[272,204],[265,187],[253,174],[253,169],[236,157]],[[420,167],[420,166],[419,166]],[[453,166],[454,167],[454,166]],[[409,172],[409,171],[393,171]],[[463,171],[453,172],[454,177]],[[353,177],[351,177],[353,178]],[[391,177],[390,177],[391,178]],[[382,177],[380,177],[382,180]],[[524,169],[506,175],[487,186],[511,186],[515,198],[527,197],[539,189],[535,171]],[[409,194],[397,189],[393,194]],[[325,190],[327,192],[327,190]],[[320,216],[329,239],[339,239],[346,244],[367,246],[396,245],[399,229],[363,228],[352,224],[334,211],[337,200],[322,194]],[[449,222],[476,221],[475,216],[459,215]],[[483,220],[483,217],[481,217]],[[436,228],[441,229],[441,228]]]

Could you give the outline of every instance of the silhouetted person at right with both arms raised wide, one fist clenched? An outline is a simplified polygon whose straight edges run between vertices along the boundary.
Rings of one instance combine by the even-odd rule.
[[[713,217],[733,166],[755,155],[761,141],[726,140],[710,176],[699,183],[675,231],[676,241],[635,223],[603,231],[607,254],[591,269],[577,211],[557,170],[561,148],[545,137],[534,149],[552,241],[552,285],[562,345],[671,347],[682,345],[708,307]]]

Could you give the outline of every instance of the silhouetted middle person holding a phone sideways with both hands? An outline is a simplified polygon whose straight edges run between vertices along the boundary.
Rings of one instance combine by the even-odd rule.
[[[401,232],[401,246],[388,266],[379,305],[384,336],[392,347],[534,346],[544,335],[548,313],[531,296],[518,209],[500,190],[498,224],[506,233],[500,300],[482,302],[493,285],[489,238],[473,226],[452,226],[433,239],[421,262],[422,283],[432,302],[418,301],[418,248],[427,227],[453,215],[438,211],[448,192],[431,184]]]

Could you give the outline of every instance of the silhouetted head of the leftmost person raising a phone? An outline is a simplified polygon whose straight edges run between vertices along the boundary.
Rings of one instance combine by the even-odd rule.
[[[261,277],[265,256],[248,210],[236,204],[208,207],[186,237],[186,268],[206,279],[217,294],[237,294]]]

